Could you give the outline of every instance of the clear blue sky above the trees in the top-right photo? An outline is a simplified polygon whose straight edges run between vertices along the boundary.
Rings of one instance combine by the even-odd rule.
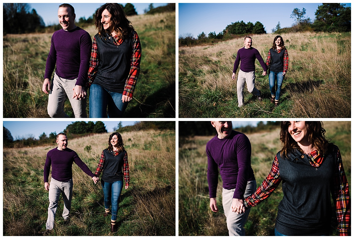
[[[291,27],[295,23],[290,15],[294,8],[306,9],[305,18],[315,19],[315,12],[322,3],[180,3],[178,4],[178,36],[192,34],[194,38],[202,32],[218,34],[227,25],[244,21],[261,22],[267,33],[280,22],[280,27]],[[351,4],[346,4],[351,7]]]

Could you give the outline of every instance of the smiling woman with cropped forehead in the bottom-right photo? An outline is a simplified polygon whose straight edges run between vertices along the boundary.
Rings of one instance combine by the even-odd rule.
[[[349,186],[337,146],[329,143],[320,121],[282,121],[282,149],[261,186],[239,213],[268,198],[282,182],[275,235],[329,235],[331,194],[339,235],[350,235]]]

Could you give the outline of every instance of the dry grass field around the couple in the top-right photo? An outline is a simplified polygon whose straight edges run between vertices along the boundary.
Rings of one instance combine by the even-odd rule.
[[[252,36],[252,46],[264,61],[274,36]],[[258,60],[256,87],[264,99],[258,102],[245,87],[245,106],[238,108],[236,80],[231,76],[243,38],[179,47],[179,117],[350,118],[351,33],[288,33],[282,38],[289,52],[289,70],[277,108],[270,102],[268,75],[261,75]]]

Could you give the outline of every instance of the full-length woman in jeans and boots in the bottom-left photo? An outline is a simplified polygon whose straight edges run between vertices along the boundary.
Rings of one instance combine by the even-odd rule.
[[[95,175],[102,172],[101,184],[104,194],[104,217],[109,214],[109,204],[112,204],[111,232],[116,232],[118,199],[123,188],[129,188],[129,164],[127,152],[120,133],[115,132],[109,136],[108,148],[104,149],[97,165]]]

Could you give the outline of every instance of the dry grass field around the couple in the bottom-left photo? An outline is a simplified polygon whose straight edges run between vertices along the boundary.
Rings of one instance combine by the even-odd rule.
[[[103,217],[101,184],[94,184],[73,165],[71,221],[63,225],[63,200],[59,200],[51,236],[175,235],[175,131],[136,131],[121,134],[128,153],[130,187],[122,190],[118,209],[118,232],[110,232],[110,217]],[[90,170],[95,172],[109,133],[70,140]],[[84,150],[91,146],[91,150]],[[47,152],[54,148],[4,148],[3,152],[3,235],[32,236],[45,231],[48,192],[43,168]],[[89,148],[89,147],[87,147]],[[51,178],[51,177],[50,177]]]

